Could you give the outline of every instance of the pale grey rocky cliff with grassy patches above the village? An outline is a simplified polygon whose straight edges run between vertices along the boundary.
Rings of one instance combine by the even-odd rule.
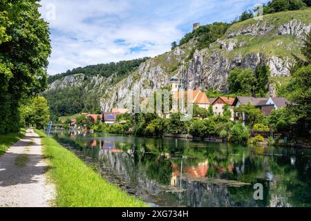
[[[140,100],[158,88],[169,86],[174,75],[184,77],[188,89],[213,88],[228,91],[228,77],[233,68],[270,67],[272,76],[289,76],[295,60],[300,55],[303,39],[311,29],[311,9],[267,15],[262,20],[250,19],[235,23],[225,35],[209,45],[196,50],[196,39],[176,47],[170,52],[142,63],[138,70],[111,86],[111,79],[94,79],[100,86],[102,111],[113,107],[129,107],[133,90],[140,88]],[[79,85],[84,75],[65,77],[55,81],[49,89]],[[91,86],[91,85],[89,85]],[[274,84],[270,92],[275,93]],[[95,87],[98,90],[98,86]],[[92,90],[88,87],[89,90]]]

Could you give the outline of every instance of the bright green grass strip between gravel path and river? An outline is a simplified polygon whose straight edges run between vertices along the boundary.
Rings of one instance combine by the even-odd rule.
[[[61,207],[141,207],[142,200],[128,195],[117,186],[106,182],[82,160],[42,131],[44,157],[50,163],[48,175],[56,186],[57,206]]]

